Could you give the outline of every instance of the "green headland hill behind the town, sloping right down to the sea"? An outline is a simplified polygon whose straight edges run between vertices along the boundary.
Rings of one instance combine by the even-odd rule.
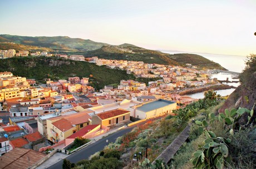
[[[186,63],[191,63],[192,65],[198,66],[199,68],[227,70],[218,63],[212,62],[200,55],[171,55],[168,53],[159,52],[157,50],[149,50],[136,47],[135,45],[131,44],[104,45],[100,49],[91,50],[80,54],[84,54],[86,57],[97,56],[99,58],[105,59],[143,61],[144,63],[158,63],[181,66],[184,66]]]

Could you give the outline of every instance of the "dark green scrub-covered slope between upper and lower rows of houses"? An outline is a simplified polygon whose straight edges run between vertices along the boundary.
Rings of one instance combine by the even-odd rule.
[[[96,89],[104,88],[105,85],[120,83],[122,79],[135,79],[126,71],[109,69],[87,62],[64,60],[47,57],[16,57],[0,59],[0,72],[11,71],[14,75],[23,76],[27,79],[52,80],[67,79],[71,76],[89,77],[91,85]]]

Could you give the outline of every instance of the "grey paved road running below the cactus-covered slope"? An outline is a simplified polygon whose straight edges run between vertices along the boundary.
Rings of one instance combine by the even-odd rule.
[[[126,134],[127,132],[130,132],[136,126],[137,125],[127,127],[123,130],[115,132],[114,134],[106,136],[106,137],[102,138],[101,140],[99,140],[91,145],[88,145],[85,148],[82,148],[80,151],[73,153],[72,155],[68,156],[66,159],[70,160],[72,163],[77,163],[80,160],[87,159],[88,157],[93,155],[95,152],[101,151],[106,146],[106,140],[109,140],[109,143],[115,142],[117,137],[120,137],[120,136]],[[63,160],[55,163],[54,165],[49,167],[49,169],[62,169],[62,163],[63,163]]]

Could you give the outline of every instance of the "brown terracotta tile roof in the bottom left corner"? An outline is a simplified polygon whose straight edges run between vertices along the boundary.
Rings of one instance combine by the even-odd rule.
[[[0,168],[3,169],[25,169],[36,164],[45,157],[46,154],[31,149],[14,148],[0,157]],[[28,162],[29,160],[29,162]]]

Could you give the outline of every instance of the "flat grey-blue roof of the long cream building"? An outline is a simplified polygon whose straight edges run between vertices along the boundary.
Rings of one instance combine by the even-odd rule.
[[[147,112],[147,111],[159,109],[161,107],[165,107],[165,106],[168,106],[168,105],[174,104],[174,103],[175,102],[173,102],[173,101],[159,99],[159,100],[155,100],[155,101],[151,101],[149,103],[143,104],[142,106],[137,107],[136,109],[140,110],[140,111]]]

